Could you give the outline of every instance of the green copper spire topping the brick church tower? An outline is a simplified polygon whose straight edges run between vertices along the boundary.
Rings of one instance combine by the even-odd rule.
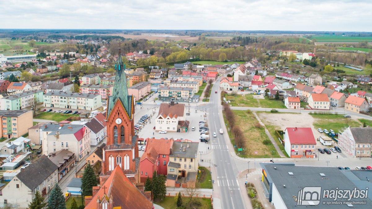
[[[130,103],[131,97],[128,96],[128,89],[126,87],[126,77],[125,77],[125,65],[121,58],[121,48],[119,43],[119,55],[118,55],[118,62],[115,64],[115,83],[113,87],[113,91],[109,98],[108,104],[108,114],[107,117],[110,115],[112,108],[114,107],[116,100],[120,100],[121,103],[124,105],[124,108],[129,116],[131,116],[131,106],[128,105]]]

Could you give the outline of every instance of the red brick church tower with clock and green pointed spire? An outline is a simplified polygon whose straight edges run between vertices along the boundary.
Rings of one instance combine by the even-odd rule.
[[[115,83],[107,107],[107,143],[103,148],[101,184],[106,181],[116,166],[121,167],[126,177],[138,183],[137,139],[134,134],[134,101],[128,95],[125,65],[119,48],[118,62],[115,64]]]

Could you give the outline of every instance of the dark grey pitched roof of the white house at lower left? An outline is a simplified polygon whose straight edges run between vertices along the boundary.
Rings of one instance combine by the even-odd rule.
[[[16,177],[29,189],[33,190],[57,169],[57,165],[47,156],[42,155],[38,160],[31,163],[28,167],[23,169],[22,172],[17,174]]]

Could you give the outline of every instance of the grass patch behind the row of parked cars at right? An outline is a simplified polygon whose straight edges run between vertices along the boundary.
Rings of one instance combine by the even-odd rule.
[[[321,128],[321,129],[332,129],[334,132],[338,133],[339,130],[343,129],[344,127],[351,126],[351,127],[359,127],[361,123],[359,121],[344,118],[343,115],[335,115],[335,114],[313,114],[309,113],[312,118],[314,118],[314,128]]]

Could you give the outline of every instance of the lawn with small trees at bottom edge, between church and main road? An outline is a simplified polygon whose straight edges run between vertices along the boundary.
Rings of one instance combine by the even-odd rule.
[[[182,194],[182,192],[181,192]],[[200,201],[201,206],[195,206],[195,209],[211,209],[212,208],[212,203],[211,199],[206,199],[206,198],[197,198],[194,197],[196,201]],[[189,197],[182,197],[182,206],[177,207],[177,199],[174,197],[164,197],[163,200],[161,201],[154,201],[155,204],[160,205],[164,209],[183,209],[183,208],[190,208],[189,207]],[[185,206],[185,207],[183,207]]]

